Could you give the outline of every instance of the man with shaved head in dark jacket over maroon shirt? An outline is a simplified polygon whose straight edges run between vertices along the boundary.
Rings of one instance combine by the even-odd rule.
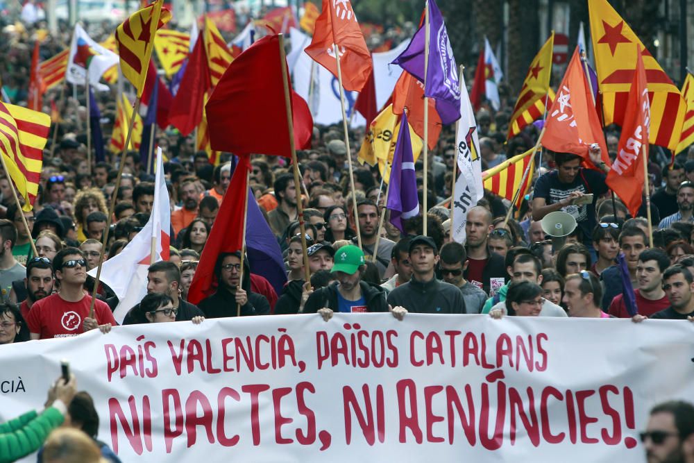
[[[504,285],[506,276],[504,258],[491,252],[487,246],[489,233],[493,230],[491,220],[491,212],[476,205],[468,211],[465,224],[465,249],[468,254],[465,279],[482,288],[490,297]]]

